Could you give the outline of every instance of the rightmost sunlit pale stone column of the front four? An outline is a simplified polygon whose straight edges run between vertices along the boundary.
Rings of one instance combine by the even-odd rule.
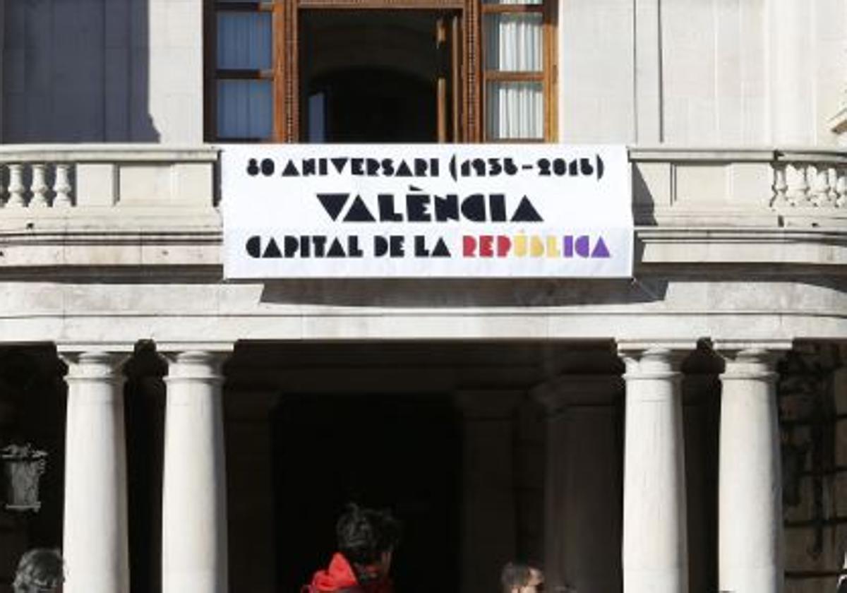
[[[721,435],[718,584],[734,593],[783,590],[782,477],[775,364],[760,348],[718,350]]]

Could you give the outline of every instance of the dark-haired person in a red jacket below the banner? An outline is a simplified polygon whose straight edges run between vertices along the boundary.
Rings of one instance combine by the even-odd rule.
[[[303,593],[393,593],[389,571],[400,523],[391,513],[348,505],[335,536],[338,551]]]

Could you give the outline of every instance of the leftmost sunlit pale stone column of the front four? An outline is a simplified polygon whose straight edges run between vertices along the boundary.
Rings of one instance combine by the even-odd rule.
[[[125,357],[63,355],[68,364],[65,428],[65,593],[129,593],[124,429]]]

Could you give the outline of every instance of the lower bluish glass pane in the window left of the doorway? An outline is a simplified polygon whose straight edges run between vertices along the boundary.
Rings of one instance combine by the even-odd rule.
[[[273,129],[270,80],[218,80],[219,138],[269,138]]]

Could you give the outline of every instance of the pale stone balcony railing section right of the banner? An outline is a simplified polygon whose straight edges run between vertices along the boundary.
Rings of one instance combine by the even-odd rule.
[[[847,152],[634,147],[630,160],[637,224],[847,224]]]

